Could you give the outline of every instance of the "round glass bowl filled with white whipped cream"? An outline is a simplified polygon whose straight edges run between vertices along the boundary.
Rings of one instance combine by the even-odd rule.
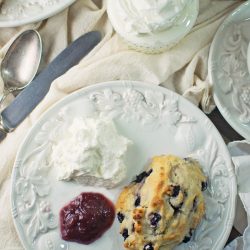
[[[198,0],[108,0],[107,12],[116,32],[142,52],[171,48],[193,27]]]

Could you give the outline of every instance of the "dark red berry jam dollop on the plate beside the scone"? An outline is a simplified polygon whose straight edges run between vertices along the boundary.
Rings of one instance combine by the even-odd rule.
[[[114,205],[104,195],[81,193],[60,211],[62,238],[90,244],[111,227],[114,218]]]

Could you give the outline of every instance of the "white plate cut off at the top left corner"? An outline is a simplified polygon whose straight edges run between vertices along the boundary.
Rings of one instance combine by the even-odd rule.
[[[0,7],[0,27],[16,27],[53,16],[75,0],[4,0]]]

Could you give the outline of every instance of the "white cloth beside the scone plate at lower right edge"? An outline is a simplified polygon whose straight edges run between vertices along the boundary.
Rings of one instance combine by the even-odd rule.
[[[229,152],[235,167],[235,174],[238,184],[238,195],[246,214],[237,204],[237,214],[234,222],[236,229],[243,231],[243,236],[233,240],[224,250],[249,250],[250,249],[250,142],[234,141],[228,144]],[[247,221],[248,226],[244,229],[242,223]]]

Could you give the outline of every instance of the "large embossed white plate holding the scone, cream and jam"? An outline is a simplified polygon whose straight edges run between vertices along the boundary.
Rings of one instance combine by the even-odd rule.
[[[76,116],[104,115],[118,132],[133,141],[125,157],[127,177],[110,190],[58,181],[50,163],[55,134]],[[118,250],[119,225],[90,245],[60,238],[59,210],[84,191],[101,192],[115,202],[121,188],[159,154],[192,155],[208,176],[204,192],[206,215],[189,243],[175,250],[219,250],[231,232],[236,181],[224,141],[212,122],[193,104],[162,87],[141,82],[114,81],[86,87],[50,108],[24,139],[12,173],[12,214],[26,249]],[[188,248],[190,247],[190,248]]]

